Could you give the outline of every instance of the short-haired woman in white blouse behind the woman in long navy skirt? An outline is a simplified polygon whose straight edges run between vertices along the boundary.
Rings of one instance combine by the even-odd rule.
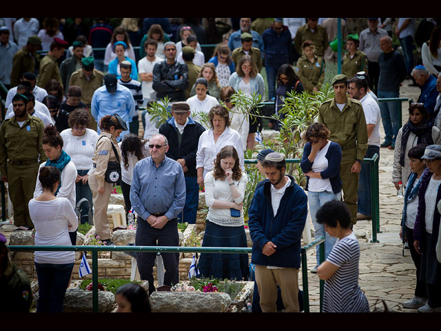
[[[198,184],[204,186],[204,178],[207,172],[213,170],[216,155],[221,148],[227,145],[236,148],[239,165],[245,171],[245,158],[243,155],[243,143],[239,132],[229,128],[229,110],[224,106],[214,106],[208,113],[211,128],[205,130],[199,137],[198,150],[196,152],[196,171],[198,172]]]

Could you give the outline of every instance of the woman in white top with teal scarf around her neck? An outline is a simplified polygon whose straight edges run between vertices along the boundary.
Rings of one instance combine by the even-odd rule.
[[[61,182],[57,190],[55,190],[54,195],[56,197],[67,198],[72,208],[75,208],[76,167],[68,153],[63,150],[63,138],[61,138],[57,128],[52,124],[45,127],[41,143],[46,157],[48,157],[48,161],[41,163],[40,169],[44,166],[53,166],[60,170]],[[43,193],[43,185],[40,181],[40,177],[37,177],[34,198],[38,197],[41,193]],[[76,231],[70,232],[70,239],[72,245],[76,245]]]

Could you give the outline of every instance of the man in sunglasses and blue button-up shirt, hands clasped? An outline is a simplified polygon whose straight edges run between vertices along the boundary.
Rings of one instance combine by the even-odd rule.
[[[185,178],[181,165],[165,157],[168,141],[163,134],[150,139],[151,157],[136,163],[133,170],[130,202],[138,215],[135,245],[178,246],[178,220],[185,205]],[[179,253],[162,253],[164,285],[179,282]],[[136,253],[141,279],[149,281],[149,293],[155,291],[153,266],[156,253]]]

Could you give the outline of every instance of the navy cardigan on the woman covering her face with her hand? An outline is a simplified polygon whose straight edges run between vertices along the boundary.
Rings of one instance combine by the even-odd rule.
[[[314,162],[310,162],[308,157],[311,154],[311,143],[305,143],[303,148],[302,161],[300,162],[300,168],[306,174],[312,168]],[[340,163],[342,161],[342,148],[338,143],[331,141],[328,151],[325,154],[328,159],[328,168],[320,172],[322,179],[329,179],[332,186],[332,192],[338,193],[342,190],[342,179],[340,178]],[[306,188],[308,190],[309,177],[306,177]]]

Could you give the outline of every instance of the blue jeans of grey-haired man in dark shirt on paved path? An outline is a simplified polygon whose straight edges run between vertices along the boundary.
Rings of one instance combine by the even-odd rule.
[[[398,98],[400,92],[391,91],[378,91],[378,99],[380,98]],[[400,119],[400,102],[401,101],[388,101],[380,102],[380,113],[383,122],[384,141],[386,143],[395,143],[398,131],[401,128]]]

